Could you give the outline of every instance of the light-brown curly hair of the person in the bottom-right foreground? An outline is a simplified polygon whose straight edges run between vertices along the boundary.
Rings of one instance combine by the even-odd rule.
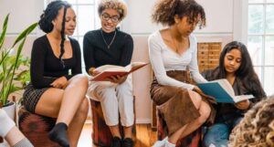
[[[274,146],[274,96],[258,102],[234,128],[229,147]]]

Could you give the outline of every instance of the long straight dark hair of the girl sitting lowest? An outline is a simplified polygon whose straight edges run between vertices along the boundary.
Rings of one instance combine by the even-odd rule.
[[[262,89],[258,76],[253,68],[252,60],[248,53],[248,48],[241,42],[232,41],[224,47],[219,58],[219,67],[217,79],[226,79],[227,70],[225,68],[225,57],[232,49],[241,52],[241,65],[236,71],[236,77],[241,80],[243,86],[248,89],[255,97],[265,97],[266,93]]]

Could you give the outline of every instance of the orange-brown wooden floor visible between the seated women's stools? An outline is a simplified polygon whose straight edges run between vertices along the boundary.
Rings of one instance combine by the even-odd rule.
[[[79,139],[79,147],[91,147],[91,123],[86,123]],[[136,125],[135,147],[151,147],[156,142],[156,131],[149,124]]]

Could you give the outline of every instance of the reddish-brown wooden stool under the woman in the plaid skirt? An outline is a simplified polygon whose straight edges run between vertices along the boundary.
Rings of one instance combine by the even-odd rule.
[[[47,133],[51,131],[56,119],[37,115],[25,110],[23,107],[18,112],[19,130],[35,147],[59,147],[58,143],[51,142]]]

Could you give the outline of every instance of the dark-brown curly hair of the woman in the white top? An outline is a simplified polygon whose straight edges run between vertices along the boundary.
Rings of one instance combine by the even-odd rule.
[[[198,22],[198,26],[205,26],[205,10],[195,0],[158,0],[153,9],[153,22],[163,26],[173,26],[174,16],[187,16],[188,22]]]

